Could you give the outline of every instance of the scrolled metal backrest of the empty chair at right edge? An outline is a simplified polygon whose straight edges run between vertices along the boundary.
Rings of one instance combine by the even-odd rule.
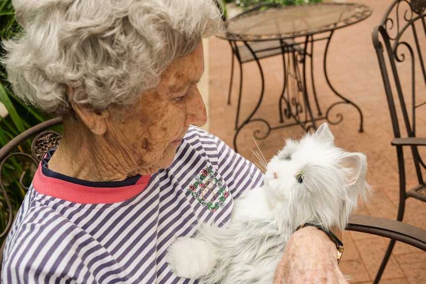
[[[426,137],[425,7],[425,0],[395,0],[373,30],[395,138]],[[411,150],[422,184],[425,163],[418,147]]]

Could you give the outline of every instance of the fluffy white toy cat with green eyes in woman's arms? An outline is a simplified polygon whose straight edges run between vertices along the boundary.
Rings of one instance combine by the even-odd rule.
[[[228,226],[203,224],[196,237],[172,243],[166,260],[178,276],[201,283],[270,284],[300,224],[344,229],[358,197],[369,195],[366,171],[366,157],[336,147],[324,123],[286,141],[268,163],[264,185],[235,201]]]

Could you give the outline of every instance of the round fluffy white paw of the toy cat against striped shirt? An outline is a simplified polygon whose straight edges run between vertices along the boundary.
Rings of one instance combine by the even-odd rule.
[[[205,241],[178,238],[169,246],[166,262],[177,276],[198,279],[209,274],[215,265],[212,247]]]

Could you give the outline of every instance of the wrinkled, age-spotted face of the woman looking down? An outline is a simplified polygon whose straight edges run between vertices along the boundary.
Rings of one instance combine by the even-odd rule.
[[[175,59],[160,83],[141,94],[123,119],[109,120],[108,140],[128,157],[132,171],[145,175],[169,166],[189,125],[206,123],[206,107],[197,88],[203,72],[200,43],[191,54]]]

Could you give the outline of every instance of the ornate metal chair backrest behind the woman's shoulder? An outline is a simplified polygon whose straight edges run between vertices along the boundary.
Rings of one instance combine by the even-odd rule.
[[[19,190],[21,192],[24,191],[24,193],[26,192],[28,187],[24,185],[24,179],[31,181],[35,168],[43,159],[44,154],[49,149],[59,145],[61,134],[49,129],[61,123],[62,119],[55,118],[37,124],[14,137],[0,149],[0,188],[2,195],[0,197],[0,216],[2,217],[6,213],[8,214],[7,217],[3,217],[7,219],[7,221],[1,222],[2,226],[0,229],[2,231],[0,240],[4,240],[7,236],[13,222],[14,214],[16,213],[16,206],[12,204],[16,202],[11,198],[11,195],[15,196],[17,193],[16,191]],[[31,146],[27,146],[27,139],[31,138],[33,138]],[[28,149],[29,147],[31,147],[31,149]],[[31,153],[24,153],[25,151],[31,151]],[[30,172],[30,176],[26,176],[28,171]],[[18,178],[19,185],[17,182]],[[15,205],[19,206],[20,201],[18,202],[19,203]],[[6,206],[7,209],[5,208]],[[5,242],[2,242],[0,249],[0,267],[4,243]]]

